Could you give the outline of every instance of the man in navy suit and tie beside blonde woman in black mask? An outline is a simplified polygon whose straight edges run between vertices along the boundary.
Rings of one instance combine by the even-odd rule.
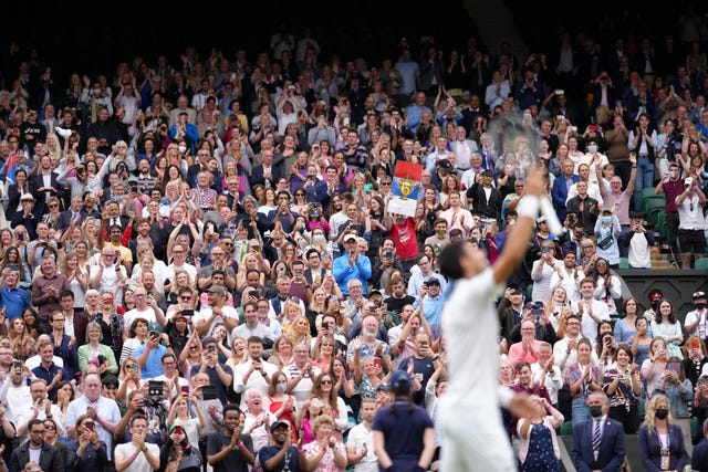
[[[589,418],[577,424],[573,424],[573,448],[571,457],[577,472],[616,472],[625,458],[624,428],[620,421],[607,418],[610,403],[603,391],[593,391],[587,397],[587,406],[591,411],[594,407],[601,407],[602,411],[602,438],[595,459],[593,451],[593,424],[595,418]]]

